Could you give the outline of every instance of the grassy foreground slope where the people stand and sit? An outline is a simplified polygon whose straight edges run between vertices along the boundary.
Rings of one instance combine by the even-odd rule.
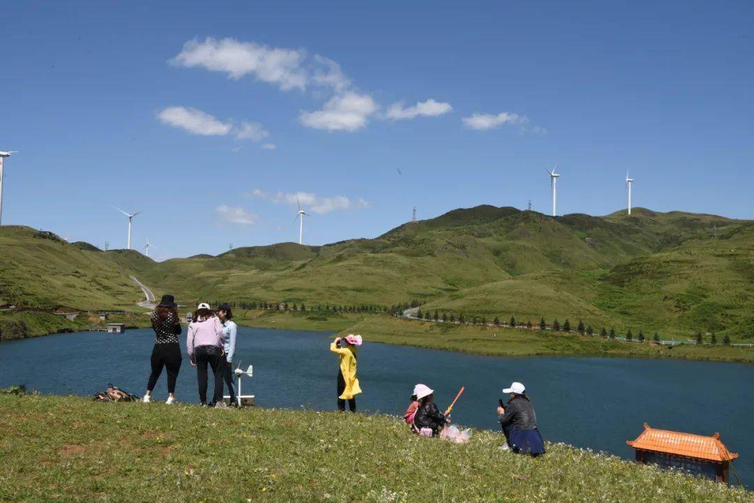
[[[549,444],[540,458],[416,437],[400,419],[0,394],[0,501],[754,501]]]

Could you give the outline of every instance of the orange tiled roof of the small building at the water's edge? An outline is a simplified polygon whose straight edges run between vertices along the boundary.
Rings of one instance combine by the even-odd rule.
[[[720,441],[720,434],[711,437],[682,433],[681,431],[658,430],[644,423],[644,431],[635,441],[626,441],[634,449],[651,450],[657,453],[688,456],[708,461],[732,461],[738,455],[731,453]]]

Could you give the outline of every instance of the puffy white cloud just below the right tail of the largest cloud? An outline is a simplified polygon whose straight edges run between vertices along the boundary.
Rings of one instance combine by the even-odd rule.
[[[365,127],[377,110],[372,96],[348,92],[333,96],[321,110],[302,111],[299,120],[316,130],[353,132]]]

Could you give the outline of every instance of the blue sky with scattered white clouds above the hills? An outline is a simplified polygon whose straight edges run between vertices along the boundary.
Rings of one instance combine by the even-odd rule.
[[[752,2],[5,2],[4,224],[170,258],[487,203],[754,218]],[[460,4],[459,4],[460,5]]]

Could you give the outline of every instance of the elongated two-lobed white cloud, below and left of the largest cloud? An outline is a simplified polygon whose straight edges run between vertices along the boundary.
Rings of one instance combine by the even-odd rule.
[[[253,142],[261,142],[262,139],[270,136],[270,133],[260,123],[242,122],[237,125],[231,120],[223,122],[198,108],[171,106],[161,111],[158,118],[168,126],[178,127],[195,135],[233,135],[237,139],[250,139]]]

